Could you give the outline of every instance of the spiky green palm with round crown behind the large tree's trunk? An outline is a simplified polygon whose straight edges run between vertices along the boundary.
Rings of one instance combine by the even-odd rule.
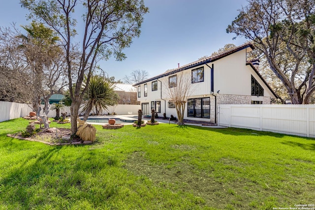
[[[84,78],[82,83],[82,90],[86,87],[86,81],[87,77]],[[87,90],[83,95],[84,121],[88,119],[93,108],[95,108],[96,114],[98,115],[100,112],[107,109],[108,106],[117,103],[114,87],[113,83],[101,76],[91,76]]]

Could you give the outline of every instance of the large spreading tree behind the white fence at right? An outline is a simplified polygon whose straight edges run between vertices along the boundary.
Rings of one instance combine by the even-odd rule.
[[[315,1],[249,0],[227,32],[252,40],[293,104],[315,91]]]

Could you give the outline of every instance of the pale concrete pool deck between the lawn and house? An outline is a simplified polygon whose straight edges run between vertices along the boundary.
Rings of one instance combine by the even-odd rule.
[[[92,120],[94,118],[103,118],[103,119],[122,119],[122,120],[138,120],[138,115],[102,115],[102,116],[89,116],[89,119]],[[149,119],[142,119],[145,122]],[[163,119],[156,119],[159,123],[171,123],[171,124],[176,124],[176,122],[170,121],[170,120],[163,120]],[[101,122],[87,122],[89,124],[98,124],[98,125],[103,125],[106,123],[101,123]],[[132,123],[125,122],[125,125],[131,125]],[[210,128],[226,128],[224,126],[219,126],[219,125],[202,125],[199,123],[185,123],[186,125],[196,125],[196,126],[201,126],[201,127],[210,127]]]

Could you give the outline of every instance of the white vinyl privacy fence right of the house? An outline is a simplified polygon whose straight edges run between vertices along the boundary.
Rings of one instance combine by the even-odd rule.
[[[220,104],[218,125],[315,138],[315,105]]]

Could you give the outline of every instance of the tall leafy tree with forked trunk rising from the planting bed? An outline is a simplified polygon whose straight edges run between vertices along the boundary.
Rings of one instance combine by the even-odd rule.
[[[116,60],[126,58],[122,50],[130,46],[133,37],[140,35],[143,15],[148,8],[143,0],[21,0],[21,4],[31,12],[30,18],[40,19],[63,40],[72,100],[71,121],[75,122],[97,61],[107,60],[112,55]],[[75,15],[77,11],[83,14]],[[75,46],[78,40],[74,39],[79,30],[75,17],[83,18],[78,24],[84,26],[79,47]],[[87,84],[82,90],[84,75],[87,75]],[[74,89],[73,84],[76,84]],[[71,131],[76,133],[77,123],[71,123]]]

